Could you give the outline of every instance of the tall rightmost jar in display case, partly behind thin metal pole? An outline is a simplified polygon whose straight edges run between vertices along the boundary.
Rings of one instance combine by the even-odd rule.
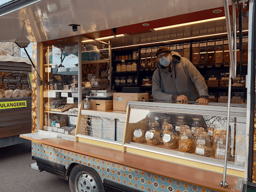
[[[230,146],[230,140],[228,142]],[[226,135],[218,135],[215,141],[215,158],[216,159],[225,159],[225,151],[226,151]],[[228,154],[230,154],[230,147],[228,147]],[[229,160],[230,156],[227,156],[227,160]]]

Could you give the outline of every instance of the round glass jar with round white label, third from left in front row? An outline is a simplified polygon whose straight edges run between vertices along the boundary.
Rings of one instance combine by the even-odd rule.
[[[165,130],[162,140],[163,144],[168,148],[178,148],[179,146],[179,136],[172,130]]]

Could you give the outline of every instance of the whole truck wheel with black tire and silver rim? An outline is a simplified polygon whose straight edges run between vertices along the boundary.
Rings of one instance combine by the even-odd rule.
[[[69,176],[71,192],[104,192],[99,174],[91,167],[75,165]]]

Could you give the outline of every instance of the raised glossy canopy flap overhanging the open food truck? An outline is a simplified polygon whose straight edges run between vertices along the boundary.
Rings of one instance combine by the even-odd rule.
[[[231,0],[229,3],[231,5]],[[162,27],[191,19],[214,18],[218,15],[212,13],[212,9],[222,7],[223,0],[16,0],[0,6],[0,41],[15,41],[26,36],[30,41],[40,42],[113,28],[117,28],[117,34],[124,31],[138,34],[138,31],[152,29],[152,26],[139,27],[144,22],[169,17],[154,24]],[[204,10],[210,11],[205,14],[201,12]],[[177,19],[177,15],[183,15],[183,19]],[[80,26],[73,31],[71,24]],[[95,34],[94,38],[101,36],[108,33]]]

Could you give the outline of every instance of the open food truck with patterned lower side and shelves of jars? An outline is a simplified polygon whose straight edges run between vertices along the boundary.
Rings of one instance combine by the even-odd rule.
[[[8,40],[37,42],[36,129],[20,135],[32,141],[33,168],[71,191],[254,187],[254,1],[22,6],[0,18],[13,24]],[[146,102],[163,45],[205,77],[207,105]]]

